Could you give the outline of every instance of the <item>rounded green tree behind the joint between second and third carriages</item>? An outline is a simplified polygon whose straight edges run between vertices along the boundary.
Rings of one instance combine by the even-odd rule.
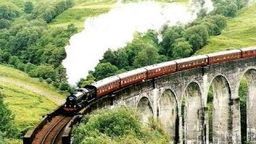
[[[146,46],[134,59],[135,67],[149,66],[158,62],[158,50],[154,46]]]

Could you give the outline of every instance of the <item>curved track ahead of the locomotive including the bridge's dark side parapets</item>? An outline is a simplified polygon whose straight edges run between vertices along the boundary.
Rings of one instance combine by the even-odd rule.
[[[72,127],[81,120],[87,109],[82,109],[80,114],[68,116],[63,112],[63,107],[59,106],[52,113],[46,114],[34,129],[26,132],[23,144],[70,144]]]

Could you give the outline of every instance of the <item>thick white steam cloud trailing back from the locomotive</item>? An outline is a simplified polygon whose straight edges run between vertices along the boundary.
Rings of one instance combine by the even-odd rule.
[[[206,0],[205,6],[213,9],[210,0]],[[197,5],[177,3],[165,6],[157,2],[118,3],[108,13],[86,19],[85,29],[74,34],[66,46],[67,57],[62,64],[66,67],[68,82],[74,85],[80,78],[86,78],[88,70],[94,70],[108,48],[116,50],[126,46],[134,32],[159,30],[165,23],[185,24],[196,18],[198,9]]]

